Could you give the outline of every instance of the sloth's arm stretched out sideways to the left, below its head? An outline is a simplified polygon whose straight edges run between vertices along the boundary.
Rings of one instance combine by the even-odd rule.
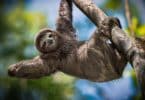
[[[39,78],[55,72],[55,67],[48,66],[47,62],[40,57],[32,60],[21,61],[9,66],[8,74],[21,78]]]

